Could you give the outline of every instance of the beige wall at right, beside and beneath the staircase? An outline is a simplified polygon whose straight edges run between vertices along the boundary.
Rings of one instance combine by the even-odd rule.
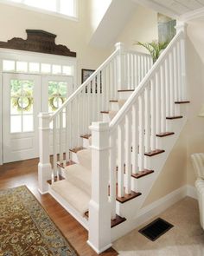
[[[204,103],[203,26],[204,19],[200,19],[189,23],[187,30],[188,122],[144,206],[185,184],[194,186],[196,177],[190,155],[204,153],[204,118],[198,117]]]

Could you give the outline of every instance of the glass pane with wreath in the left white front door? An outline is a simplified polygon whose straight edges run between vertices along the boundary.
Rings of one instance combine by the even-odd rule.
[[[34,119],[34,115],[32,115],[33,110],[34,81],[10,80],[10,132],[32,131]],[[15,115],[17,117],[15,117]]]

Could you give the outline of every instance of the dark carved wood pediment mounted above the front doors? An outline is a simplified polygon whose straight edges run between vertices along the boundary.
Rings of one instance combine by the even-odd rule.
[[[0,42],[0,48],[20,49],[60,56],[76,57],[76,53],[65,45],[56,44],[56,35],[44,30],[26,30],[27,39],[14,37],[7,42]]]

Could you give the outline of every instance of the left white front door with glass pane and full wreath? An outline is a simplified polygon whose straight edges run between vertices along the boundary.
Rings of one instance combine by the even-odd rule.
[[[41,76],[3,74],[3,162],[38,156]]]

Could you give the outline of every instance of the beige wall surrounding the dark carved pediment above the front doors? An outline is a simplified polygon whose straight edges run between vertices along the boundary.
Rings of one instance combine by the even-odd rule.
[[[25,38],[26,29],[47,30],[56,34],[56,43],[65,44],[69,49],[77,52],[78,82],[80,82],[81,68],[96,69],[110,54],[109,50],[96,49],[86,43],[89,24],[84,0],[79,0],[78,22],[2,3],[0,3],[0,17],[0,41],[7,41],[14,36]]]

